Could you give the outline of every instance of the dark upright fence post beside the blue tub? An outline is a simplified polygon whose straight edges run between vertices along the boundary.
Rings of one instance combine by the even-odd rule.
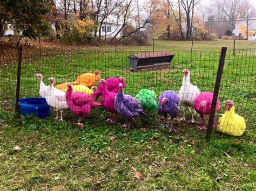
[[[17,66],[15,111],[19,112],[19,89],[21,87],[22,47],[18,46],[17,50],[18,50],[18,66]]]

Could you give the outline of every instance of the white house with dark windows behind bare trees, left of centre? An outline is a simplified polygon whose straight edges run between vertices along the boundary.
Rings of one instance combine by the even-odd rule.
[[[119,31],[120,26],[114,23],[103,23],[100,30],[100,36],[102,37],[114,37],[116,33]],[[99,36],[99,30],[97,32],[97,36]],[[120,37],[120,33],[117,35]]]

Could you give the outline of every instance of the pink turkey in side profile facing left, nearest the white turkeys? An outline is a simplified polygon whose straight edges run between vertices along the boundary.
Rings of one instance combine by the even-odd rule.
[[[93,101],[92,96],[76,92],[73,93],[73,89],[71,84],[68,85],[68,90],[66,91],[66,102],[69,105],[70,111],[79,116],[78,122],[82,122],[83,116],[87,116],[91,114],[92,108],[99,107],[100,103]]]

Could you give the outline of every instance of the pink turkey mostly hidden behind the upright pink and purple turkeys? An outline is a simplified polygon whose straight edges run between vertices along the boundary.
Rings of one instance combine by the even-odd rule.
[[[123,84],[123,88],[125,88],[126,83],[125,83],[125,77],[110,77],[108,79],[106,79],[106,88],[108,91],[111,91],[113,93],[118,93],[119,90],[119,83]],[[92,94],[93,97],[98,98],[99,96],[102,95],[102,87],[103,85],[100,83],[97,90],[95,91],[95,93]]]

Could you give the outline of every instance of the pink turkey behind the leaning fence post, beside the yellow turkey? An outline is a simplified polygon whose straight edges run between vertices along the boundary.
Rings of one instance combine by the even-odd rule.
[[[199,94],[196,97],[196,100],[194,100],[194,109],[198,112],[198,114],[200,114],[201,121],[202,121],[200,130],[206,129],[204,124],[204,116],[209,115],[211,112],[212,98],[213,98],[213,93],[205,91]],[[215,112],[220,110],[219,97],[217,99],[218,100],[215,107]],[[216,124],[215,121],[214,121],[214,124]]]

